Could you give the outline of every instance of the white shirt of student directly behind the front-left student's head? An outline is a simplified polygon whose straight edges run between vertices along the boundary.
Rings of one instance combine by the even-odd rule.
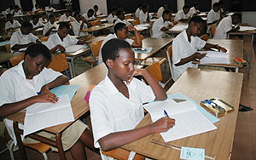
[[[29,33],[28,35],[22,34],[20,29],[18,31],[15,31],[12,37],[10,38],[10,47],[14,47],[15,44],[27,44],[27,43],[36,43],[39,38],[34,36],[32,33]],[[15,52],[11,49],[11,52],[13,54],[20,54],[20,52]]]

